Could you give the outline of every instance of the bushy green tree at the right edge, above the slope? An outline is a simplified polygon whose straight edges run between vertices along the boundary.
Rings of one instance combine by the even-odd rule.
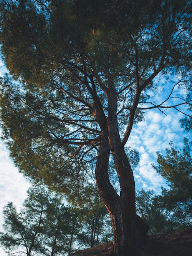
[[[192,218],[192,158],[190,156],[192,142],[184,139],[184,147],[178,150],[169,143],[171,148],[166,149],[163,156],[157,152],[158,165],[153,167],[166,180],[169,188],[162,188],[162,196],[158,203],[161,208],[171,214],[171,221],[175,226],[186,226]]]

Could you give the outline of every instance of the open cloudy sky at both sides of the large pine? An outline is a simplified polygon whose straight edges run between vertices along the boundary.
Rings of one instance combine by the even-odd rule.
[[[0,76],[5,72],[6,68],[0,61]],[[190,134],[180,127],[179,119],[182,117],[182,113],[173,110],[167,111],[167,115],[157,110],[148,110],[145,119],[133,127],[127,146],[135,148],[140,154],[139,165],[134,170],[137,190],[150,189],[159,194],[161,186],[166,186],[166,181],[156,173],[151,163],[156,163],[157,151],[165,153],[170,140],[182,148],[184,137],[189,138]],[[29,186],[10,159],[5,143],[0,141],[0,231],[3,231],[3,206],[12,201],[19,209]],[[2,248],[0,256],[7,256]]]

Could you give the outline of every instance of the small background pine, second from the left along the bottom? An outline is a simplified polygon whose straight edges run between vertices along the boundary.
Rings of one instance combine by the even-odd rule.
[[[44,256],[70,255],[77,249],[73,243],[80,228],[78,212],[65,206],[58,197],[53,197],[43,222],[43,232],[36,242],[36,251]]]

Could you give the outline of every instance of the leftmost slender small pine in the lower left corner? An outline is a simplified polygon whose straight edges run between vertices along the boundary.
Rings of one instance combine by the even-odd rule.
[[[10,254],[15,249],[27,256],[35,250],[36,238],[42,232],[43,219],[48,205],[48,194],[39,188],[30,188],[28,198],[23,203],[20,213],[13,203],[4,207],[5,233],[0,233],[0,243]]]

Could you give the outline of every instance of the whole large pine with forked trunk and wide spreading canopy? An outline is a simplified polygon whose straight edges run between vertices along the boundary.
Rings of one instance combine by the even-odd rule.
[[[95,171],[114,252],[135,255],[141,219],[124,147],[147,109],[184,113],[190,104],[183,93],[190,1],[1,0],[0,25],[3,58],[17,80],[6,76],[1,93],[15,164],[71,198]],[[109,179],[110,153],[120,195]]]

